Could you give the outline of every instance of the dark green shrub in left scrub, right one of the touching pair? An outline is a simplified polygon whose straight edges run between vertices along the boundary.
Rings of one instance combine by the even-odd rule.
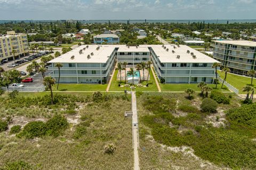
[[[68,120],[61,115],[55,115],[45,123],[46,135],[59,136],[67,127]]]

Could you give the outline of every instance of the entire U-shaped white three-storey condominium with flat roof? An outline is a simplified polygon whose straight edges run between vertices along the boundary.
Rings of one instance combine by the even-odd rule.
[[[53,59],[51,76],[58,78],[55,63],[62,63],[62,83],[108,82],[116,61],[135,67],[142,61],[153,62],[159,79],[166,83],[212,83],[215,77],[212,64],[219,62],[186,45],[82,45]]]

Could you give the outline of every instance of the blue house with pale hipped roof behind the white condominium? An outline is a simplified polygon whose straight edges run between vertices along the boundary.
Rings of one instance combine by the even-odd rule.
[[[118,44],[119,37],[115,34],[100,34],[93,37],[94,44]]]

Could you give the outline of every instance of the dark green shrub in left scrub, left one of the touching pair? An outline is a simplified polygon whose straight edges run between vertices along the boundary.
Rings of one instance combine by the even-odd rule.
[[[18,137],[24,136],[28,139],[33,139],[34,137],[41,137],[43,135],[45,135],[45,123],[42,121],[33,121],[24,126]]]

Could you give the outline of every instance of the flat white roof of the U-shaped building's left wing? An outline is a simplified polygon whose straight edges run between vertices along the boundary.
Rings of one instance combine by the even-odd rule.
[[[96,50],[98,46],[100,49]],[[83,48],[85,48],[85,50],[83,50]],[[79,54],[80,50],[83,50],[82,54]],[[86,48],[86,45],[81,45],[49,61],[49,63],[106,63],[114,50],[115,46],[113,45],[89,45],[89,48]],[[93,55],[91,55],[92,52]],[[73,55],[75,57],[71,59]],[[87,59],[87,55],[91,55],[91,58]]]

